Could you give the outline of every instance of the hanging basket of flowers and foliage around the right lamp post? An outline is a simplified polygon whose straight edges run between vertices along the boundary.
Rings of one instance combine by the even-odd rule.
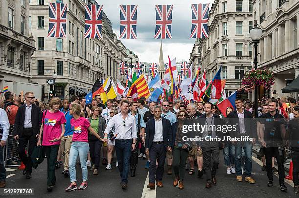
[[[270,89],[271,85],[274,84],[274,75],[268,69],[251,70],[244,75],[242,84],[246,88],[262,85],[265,89]]]

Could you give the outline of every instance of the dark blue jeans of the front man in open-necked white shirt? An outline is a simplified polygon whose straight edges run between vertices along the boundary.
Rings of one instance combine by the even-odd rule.
[[[132,139],[115,139],[115,152],[122,183],[128,183],[130,157],[132,152]]]

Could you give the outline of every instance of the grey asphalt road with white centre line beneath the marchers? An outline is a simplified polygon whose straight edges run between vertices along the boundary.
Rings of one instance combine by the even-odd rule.
[[[70,184],[69,178],[65,178],[61,174],[63,168],[56,169],[56,186],[51,193],[46,190],[47,165],[46,161],[33,170],[32,179],[25,179],[22,170],[16,167],[7,168],[6,179],[8,188],[34,188],[34,198],[296,198],[299,195],[293,192],[293,182],[286,180],[287,192],[279,190],[278,174],[274,176],[274,187],[267,187],[268,178],[266,171],[261,171],[261,162],[253,156],[252,176],[256,180],[255,184],[249,184],[245,181],[237,182],[235,174],[226,174],[223,153],[220,151],[220,164],[217,170],[217,185],[211,189],[205,188],[206,179],[197,178],[197,171],[194,175],[188,175],[186,171],[184,190],[173,187],[172,182],[174,176],[166,174],[167,164],[165,164],[163,188],[150,190],[146,188],[148,184],[148,170],[145,170],[146,160],[139,158],[136,177],[128,177],[128,188],[122,190],[119,184],[120,175],[115,163],[112,164],[112,170],[105,170],[106,166],[101,165],[99,175],[92,175],[92,171],[88,170],[88,188],[83,191],[65,192],[65,188]],[[79,165],[77,169],[77,180],[82,182],[82,173]],[[3,196],[4,189],[0,189],[1,198],[18,197],[16,195]]]

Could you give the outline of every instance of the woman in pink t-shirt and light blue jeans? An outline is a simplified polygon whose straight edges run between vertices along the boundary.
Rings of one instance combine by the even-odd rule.
[[[74,131],[72,146],[69,153],[69,177],[71,184],[67,187],[66,191],[73,190],[84,190],[87,188],[87,153],[89,151],[88,144],[88,130],[100,141],[104,141],[98,133],[96,133],[93,128],[90,126],[88,119],[81,116],[81,106],[79,104],[72,104],[69,108],[69,114],[73,115],[74,118],[71,119],[71,127]],[[83,115],[84,116],[84,115]],[[77,187],[77,178],[76,178],[76,161],[79,154],[80,165],[82,169],[82,180],[83,182]]]

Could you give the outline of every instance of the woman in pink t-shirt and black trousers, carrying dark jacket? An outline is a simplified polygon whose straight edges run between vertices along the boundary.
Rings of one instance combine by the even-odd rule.
[[[41,138],[43,135],[42,146],[48,160],[48,191],[52,191],[56,182],[55,163],[60,145],[60,139],[63,137],[65,132],[64,123],[66,123],[66,119],[64,114],[59,111],[60,105],[61,100],[58,97],[51,99],[49,102],[51,109],[43,112],[43,124],[41,125],[40,136],[37,142],[37,146],[41,145]]]

